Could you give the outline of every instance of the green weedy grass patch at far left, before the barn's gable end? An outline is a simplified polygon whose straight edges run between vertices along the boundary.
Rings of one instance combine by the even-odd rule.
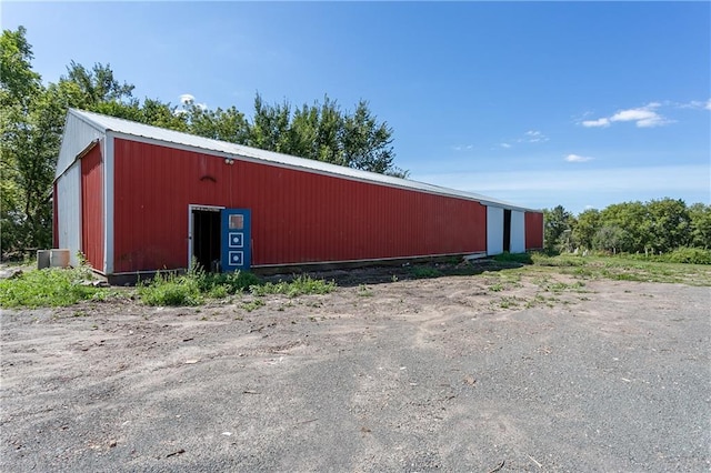
[[[108,298],[107,289],[84,284],[91,279],[93,275],[86,268],[27,271],[16,278],[0,281],[0,306],[57,308],[84,300]]]

